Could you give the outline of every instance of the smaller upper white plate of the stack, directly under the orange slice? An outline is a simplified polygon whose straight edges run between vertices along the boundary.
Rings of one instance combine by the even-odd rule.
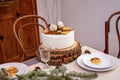
[[[92,58],[99,58],[101,61],[100,64],[93,64],[91,62]],[[111,59],[109,56],[99,53],[88,54],[82,58],[82,61],[86,66],[92,68],[109,68],[116,64],[116,62],[113,59]]]

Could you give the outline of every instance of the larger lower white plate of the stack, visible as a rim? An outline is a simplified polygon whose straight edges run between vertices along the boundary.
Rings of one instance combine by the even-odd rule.
[[[111,59],[113,59],[114,61],[115,61],[115,65],[114,66],[112,66],[112,67],[109,67],[109,68],[102,68],[102,69],[97,69],[97,68],[91,68],[91,67],[88,67],[88,66],[86,66],[83,62],[82,62],[82,58],[83,57],[85,57],[87,54],[83,54],[83,55],[81,55],[81,56],[79,56],[78,58],[77,58],[77,63],[78,63],[78,65],[79,66],[81,66],[82,68],[84,68],[84,69],[86,69],[86,70],[90,70],[90,71],[109,71],[109,70],[112,70],[112,69],[115,69],[116,67],[117,67],[117,63],[118,63],[118,59],[117,58],[115,58],[115,57],[112,57],[112,56],[109,56]],[[105,54],[106,55],[106,54]]]

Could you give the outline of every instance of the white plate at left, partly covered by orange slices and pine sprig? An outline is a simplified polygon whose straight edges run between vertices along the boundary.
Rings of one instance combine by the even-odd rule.
[[[0,65],[0,68],[9,68],[11,66],[15,66],[18,68],[17,74],[25,74],[28,72],[28,66],[23,63],[11,62],[11,63],[4,63]]]

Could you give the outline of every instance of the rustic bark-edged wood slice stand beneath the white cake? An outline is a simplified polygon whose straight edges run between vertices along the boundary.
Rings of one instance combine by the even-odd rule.
[[[67,64],[77,59],[81,53],[82,51],[80,43],[76,41],[71,47],[65,49],[53,49],[50,53],[50,61],[48,64],[55,66],[61,65],[63,63]],[[39,61],[41,61],[39,52],[36,52],[36,57]]]

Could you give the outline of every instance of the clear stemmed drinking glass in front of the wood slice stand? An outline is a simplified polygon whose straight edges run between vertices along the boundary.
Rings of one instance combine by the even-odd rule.
[[[49,65],[47,64],[47,62],[50,60],[51,49],[44,47],[43,45],[40,45],[39,52],[40,52],[41,61],[43,61],[45,63],[44,68],[45,69],[49,68]]]

